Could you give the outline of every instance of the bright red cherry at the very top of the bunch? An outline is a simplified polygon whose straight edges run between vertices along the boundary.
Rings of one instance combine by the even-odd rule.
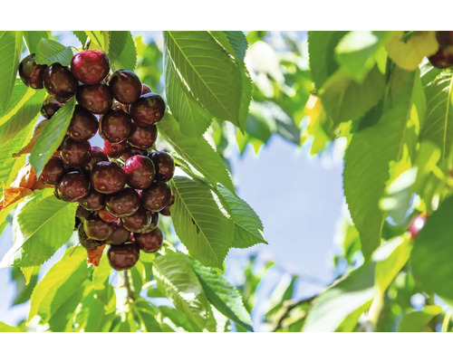
[[[78,52],[72,57],[72,74],[84,84],[102,81],[110,70],[109,57],[98,49]]]

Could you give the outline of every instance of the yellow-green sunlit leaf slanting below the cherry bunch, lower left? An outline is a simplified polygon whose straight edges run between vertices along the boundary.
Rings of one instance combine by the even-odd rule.
[[[51,319],[67,300],[74,297],[74,291],[89,278],[90,272],[83,248],[73,252],[67,250],[62,260],[56,262],[34,288],[27,321],[36,315],[43,321]]]

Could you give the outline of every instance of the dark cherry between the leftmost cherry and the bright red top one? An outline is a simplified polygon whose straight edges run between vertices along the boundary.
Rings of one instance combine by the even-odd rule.
[[[43,74],[45,89],[57,100],[69,100],[77,90],[78,82],[68,67],[54,62]]]

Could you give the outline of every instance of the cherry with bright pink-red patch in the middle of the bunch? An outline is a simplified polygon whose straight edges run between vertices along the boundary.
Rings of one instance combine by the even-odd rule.
[[[149,157],[136,155],[130,157],[124,164],[127,184],[130,187],[144,189],[154,181],[154,164]]]

